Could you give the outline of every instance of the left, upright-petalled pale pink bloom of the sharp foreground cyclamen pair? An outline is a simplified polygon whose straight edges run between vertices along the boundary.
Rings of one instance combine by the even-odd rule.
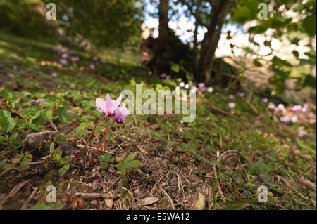
[[[107,94],[106,100],[97,98],[96,99],[96,109],[99,112],[104,112],[106,117],[113,117],[114,110],[117,109],[118,105],[120,105],[122,100],[122,95],[120,95],[117,100],[112,100],[110,95]]]

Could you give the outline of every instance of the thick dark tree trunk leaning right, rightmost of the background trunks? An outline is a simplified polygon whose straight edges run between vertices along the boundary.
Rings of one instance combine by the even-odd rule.
[[[201,45],[201,53],[198,62],[198,74],[204,74],[205,81],[211,79],[211,67],[213,65],[213,58],[218,46],[218,41],[223,27],[223,20],[228,12],[230,0],[216,0],[213,6],[213,16],[211,23],[207,27],[208,31],[205,34]]]

